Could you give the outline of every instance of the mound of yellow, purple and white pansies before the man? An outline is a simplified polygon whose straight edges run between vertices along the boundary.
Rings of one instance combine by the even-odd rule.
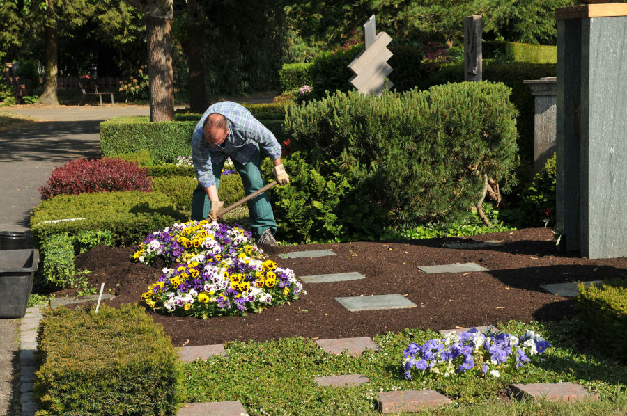
[[[141,298],[155,311],[178,316],[261,312],[303,292],[294,272],[264,259],[251,232],[237,226],[174,223],[146,237],[133,257],[144,264],[157,257],[169,262]]]

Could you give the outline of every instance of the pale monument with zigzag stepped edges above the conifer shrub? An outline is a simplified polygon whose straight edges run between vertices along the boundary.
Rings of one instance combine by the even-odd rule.
[[[364,24],[366,48],[348,64],[355,75],[348,81],[359,90],[360,93],[374,93],[381,95],[382,91],[392,88],[392,81],[385,82],[386,77],[392,72],[387,60],[392,58],[392,52],[387,49],[392,38],[385,32],[376,35],[375,15],[372,15]]]

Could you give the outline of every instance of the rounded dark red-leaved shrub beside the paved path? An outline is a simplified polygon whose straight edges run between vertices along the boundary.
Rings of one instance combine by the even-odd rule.
[[[79,193],[141,191],[150,192],[153,181],[148,169],[122,159],[77,159],[54,168],[39,189],[41,199]]]

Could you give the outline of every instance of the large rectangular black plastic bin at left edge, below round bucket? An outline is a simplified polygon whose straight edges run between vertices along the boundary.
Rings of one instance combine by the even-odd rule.
[[[0,318],[26,314],[33,278],[39,266],[39,250],[0,251]]]

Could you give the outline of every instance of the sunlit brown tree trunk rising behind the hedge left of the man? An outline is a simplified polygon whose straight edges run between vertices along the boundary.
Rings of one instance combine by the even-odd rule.
[[[150,121],[170,121],[174,114],[172,19],[146,15]]]

